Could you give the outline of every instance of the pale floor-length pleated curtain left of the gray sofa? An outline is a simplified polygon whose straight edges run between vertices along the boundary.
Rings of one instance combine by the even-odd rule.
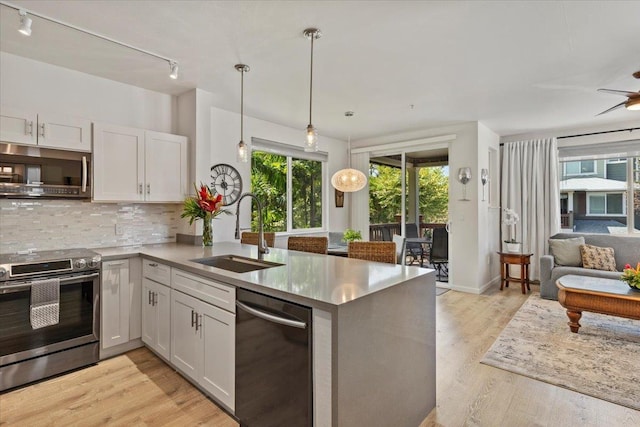
[[[540,257],[547,240],[560,230],[558,144],[555,138],[518,141],[502,148],[501,206],[520,216],[516,240],[533,253],[529,278],[540,279]],[[507,230],[502,228],[503,236]],[[504,239],[503,239],[504,240]]]

